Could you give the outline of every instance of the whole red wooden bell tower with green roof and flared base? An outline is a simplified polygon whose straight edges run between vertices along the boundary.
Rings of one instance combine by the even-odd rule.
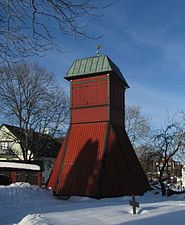
[[[119,68],[107,56],[76,60],[71,83],[71,124],[48,187],[63,196],[94,198],[142,195],[147,179],[124,128]]]

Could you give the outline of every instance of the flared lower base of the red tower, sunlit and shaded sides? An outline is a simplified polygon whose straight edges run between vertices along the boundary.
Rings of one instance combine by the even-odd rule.
[[[57,195],[92,198],[143,195],[149,184],[123,127],[72,124],[48,187]]]

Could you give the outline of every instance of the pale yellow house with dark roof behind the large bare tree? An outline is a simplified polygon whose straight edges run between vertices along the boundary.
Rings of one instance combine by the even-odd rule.
[[[49,135],[40,135],[35,133],[33,146],[38,149],[40,143],[44,143],[44,149],[40,149],[39,154],[34,160],[42,161],[42,183],[46,183],[49,174],[53,168],[60,146],[63,142],[61,139],[53,139]],[[16,126],[2,124],[0,126],[0,161],[24,160],[20,146],[20,140],[23,140],[21,129]],[[43,144],[42,143],[42,144]],[[28,157],[31,151],[28,151]]]

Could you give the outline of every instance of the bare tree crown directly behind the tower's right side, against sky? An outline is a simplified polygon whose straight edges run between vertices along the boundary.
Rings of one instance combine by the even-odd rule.
[[[134,147],[146,142],[150,131],[150,120],[142,115],[141,106],[126,106],[125,128]]]

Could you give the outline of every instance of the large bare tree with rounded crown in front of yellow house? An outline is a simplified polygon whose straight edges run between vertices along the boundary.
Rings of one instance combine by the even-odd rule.
[[[19,127],[25,160],[34,158],[44,145],[47,147],[48,130],[54,137],[65,130],[68,122],[68,97],[54,75],[37,64],[23,62],[1,68],[0,104],[5,121]]]

